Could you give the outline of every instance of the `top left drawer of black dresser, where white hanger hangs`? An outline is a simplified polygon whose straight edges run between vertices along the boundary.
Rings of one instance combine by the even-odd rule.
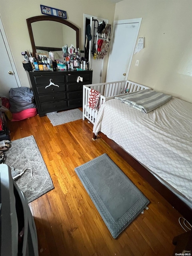
[[[44,71],[46,72],[46,71]],[[34,76],[35,85],[49,85],[50,83],[59,84],[65,83],[65,76],[64,75],[44,75],[44,76]]]

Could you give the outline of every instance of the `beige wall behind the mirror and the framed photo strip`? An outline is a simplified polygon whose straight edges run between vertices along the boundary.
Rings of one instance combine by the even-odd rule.
[[[83,48],[83,13],[108,19],[113,24],[115,4],[102,0],[0,0],[0,15],[4,25],[11,52],[16,64],[22,86],[28,86],[27,74],[22,66],[21,52],[32,50],[26,19],[43,15],[41,5],[50,6],[67,12],[67,20],[79,28],[80,49]],[[107,59],[105,60],[106,72]]]

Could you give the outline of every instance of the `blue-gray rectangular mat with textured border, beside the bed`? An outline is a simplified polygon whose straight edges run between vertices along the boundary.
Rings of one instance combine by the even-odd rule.
[[[149,203],[107,154],[76,167],[75,171],[113,238]]]

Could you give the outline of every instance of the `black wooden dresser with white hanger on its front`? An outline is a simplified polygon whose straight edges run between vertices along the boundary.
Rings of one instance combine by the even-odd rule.
[[[84,84],[92,83],[92,70],[27,71],[39,116],[82,107]],[[82,82],[78,77],[82,77]]]

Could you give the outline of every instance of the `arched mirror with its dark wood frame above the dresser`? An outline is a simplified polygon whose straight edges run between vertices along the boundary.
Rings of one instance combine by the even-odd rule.
[[[26,21],[34,57],[41,51],[62,51],[66,44],[79,47],[79,29],[67,20],[41,15]]]

